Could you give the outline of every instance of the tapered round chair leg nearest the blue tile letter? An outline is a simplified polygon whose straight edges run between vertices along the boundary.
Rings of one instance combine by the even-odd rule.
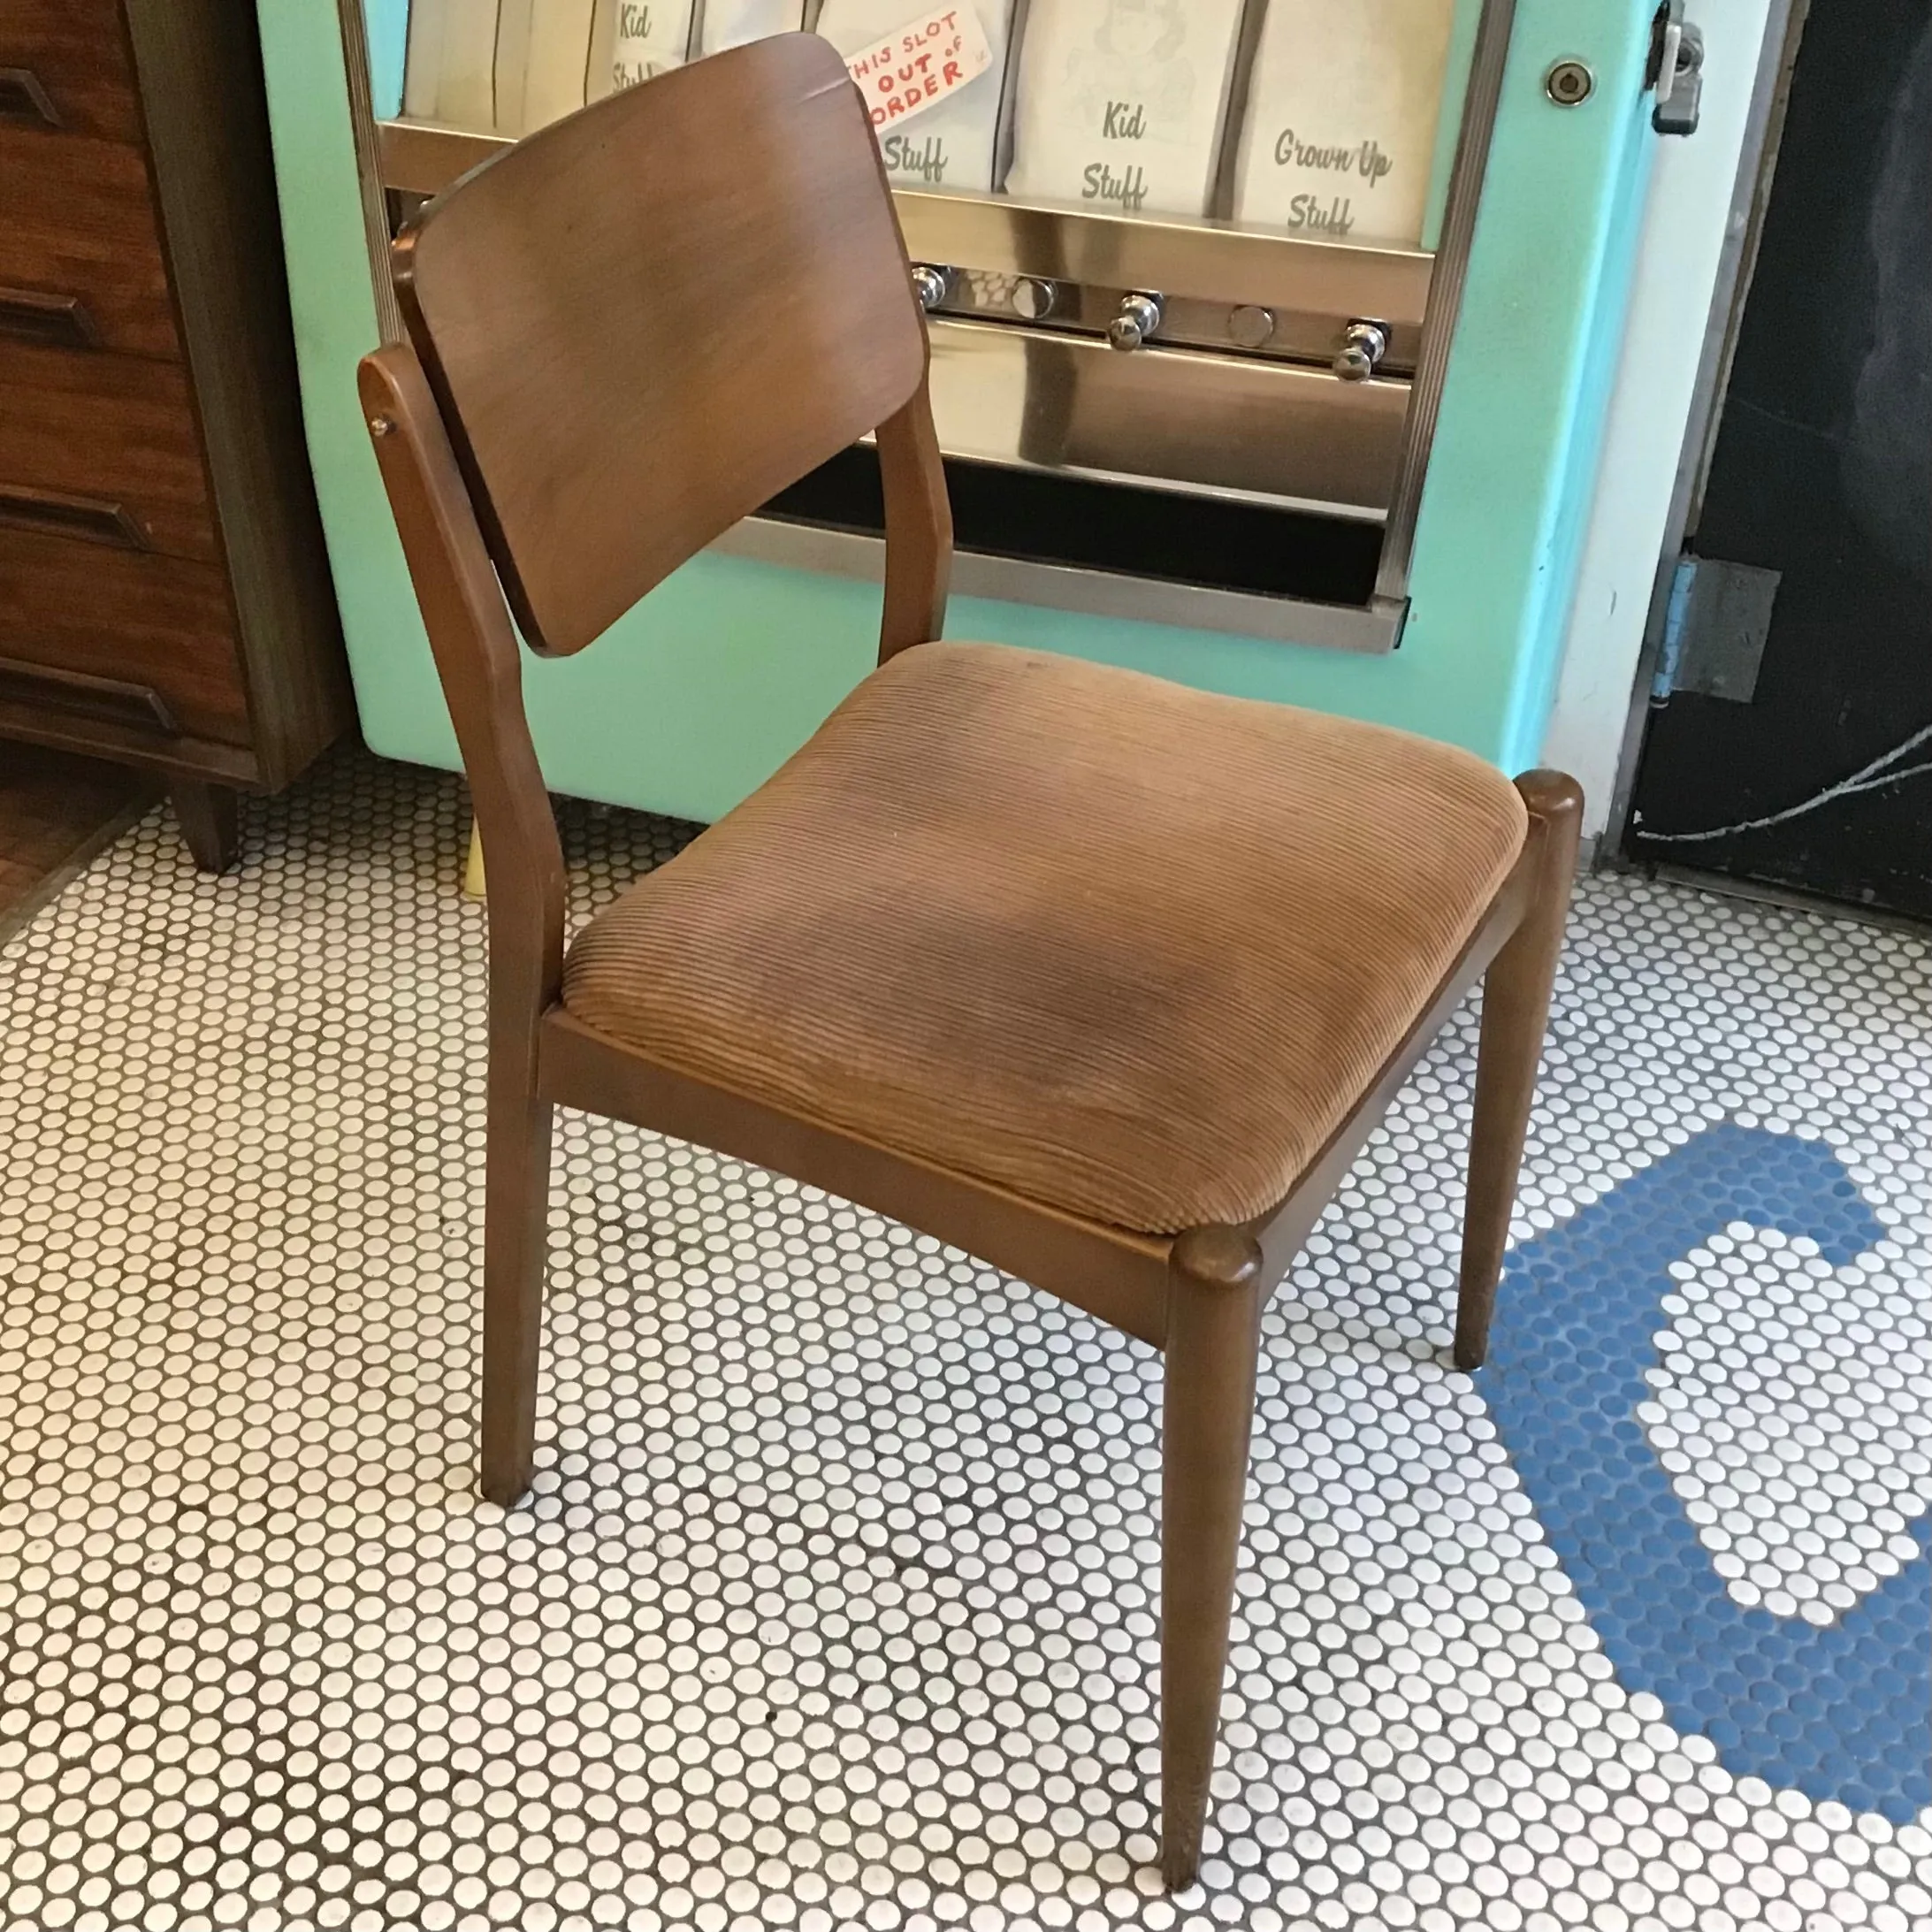
[[[1536,1097],[1549,989],[1563,951],[1582,835],[1582,788],[1575,779],[1561,771],[1530,771],[1517,779],[1517,790],[1530,808],[1530,838],[1536,840],[1534,893],[1522,923],[1490,962],[1482,983],[1476,1121],[1468,1146],[1463,1285],[1455,1318],[1457,1368],[1482,1368],[1490,1349],[1495,1283],[1509,1244],[1522,1140]]]

